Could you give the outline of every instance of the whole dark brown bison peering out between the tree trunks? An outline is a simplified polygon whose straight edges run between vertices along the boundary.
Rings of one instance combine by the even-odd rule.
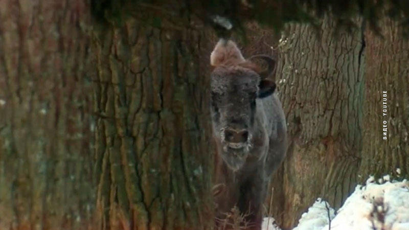
[[[252,62],[264,60],[262,71]],[[286,121],[275,94],[276,84],[267,79],[276,62],[256,55],[245,60],[231,40],[221,39],[211,64],[211,116],[217,147],[214,191],[216,225],[232,228],[227,213],[236,206],[246,229],[260,229],[262,204],[268,182],[286,153]]]

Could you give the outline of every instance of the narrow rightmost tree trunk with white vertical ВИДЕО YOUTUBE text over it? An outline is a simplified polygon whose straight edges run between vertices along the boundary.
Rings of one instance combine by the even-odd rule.
[[[366,33],[362,180],[369,174],[377,177],[390,174],[394,178],[409,176],[409,42],[395,22],[383,19],[380,26],[383,38],[369,31]],[[385,116],[383,91],[387,91]],[[387,127],[383,127],[383,121],[387,122]],[[387,128],[387,140],[383,140],[384,128]]]

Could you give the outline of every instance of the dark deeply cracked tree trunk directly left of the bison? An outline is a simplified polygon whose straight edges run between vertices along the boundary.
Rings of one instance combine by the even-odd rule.
[[[209,229],[208,72],[203,34],[137,19],[95,30],[100,229]],[[210,54],[210,48],[206,49]],[[206,62],[206,66],[209,64]]]

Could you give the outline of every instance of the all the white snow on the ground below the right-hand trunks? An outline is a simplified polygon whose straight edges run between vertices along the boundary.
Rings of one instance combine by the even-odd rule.
[[[366,186],[356,186],[336,215],[327,202],[317,199],[293,230],[409,230],[409,181],[389,180],[384,176],[378,184],[370,177]]]

